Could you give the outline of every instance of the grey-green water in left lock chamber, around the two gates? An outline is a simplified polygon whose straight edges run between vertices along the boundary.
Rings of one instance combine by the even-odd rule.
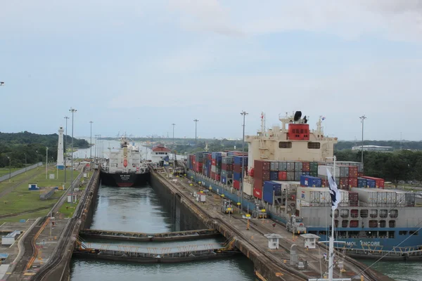
[[[163,209],[158,195],[149,185],[140,188],[101,186],[98,191],[97,206],[91,228],[164,233],[174,231],[175,222],[172,220],[171,214]],[[218,242],[221,242],[221,240],[207,239],[203,242],[193,241],[191,244]],[[110,244],[115,244],[115,242]],[[182,244],[186,244],[186,242]],[[154,245],[157,248],[162,246],[160,243]],[[168,247],[168,245],[166,246]],[[174,264],[139,264],[72,259],[70,266],[71,281],[211,281],[223,279],[231,281],[257,280],[253,274],[253,263],[245,256]]]

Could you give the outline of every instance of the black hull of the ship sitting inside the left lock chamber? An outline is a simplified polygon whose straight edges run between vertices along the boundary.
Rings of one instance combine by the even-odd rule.
[[[101,184],[108,186],[129,187],[145,185],[150,179],[150,172],[144,174],[108,174],[100,173]]]

